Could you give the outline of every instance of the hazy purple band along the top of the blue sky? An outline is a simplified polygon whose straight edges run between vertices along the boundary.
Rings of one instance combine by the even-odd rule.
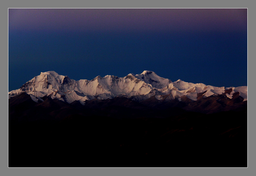
[[[9,9],[9,28],[60,31],[244,30],[247,9]]]

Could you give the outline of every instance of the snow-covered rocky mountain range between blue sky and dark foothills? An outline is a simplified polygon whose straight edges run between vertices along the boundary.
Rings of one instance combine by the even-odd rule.
[[[232,99],[232,94],[235,92],[239,92],[239,95],[244,98],[243,101],[247,101],[247,86],[214,87],[202,83],[188,83],[180,79],[172,82],[152,71],[143,71],[137,75],[130,73],[122,78],[113,75],[97,76],[91,81],[86,79],[75,81],[54,71],[41,72],[19,89],[8,92],[8,96],[10,98],[22,92],[29,94],[35,102],[43,101],[42,97],[48,96],[68,103],[79,101],[83,105],[86,100],[111,99],[116,96],[127,97],[138,102],[152,96],[155,96],[157,100],[165,97],[166,100],[177,99],[179,101],[181,97],[186,96],[197,101],[198,93],[203,93],[200,94],[201,97],[225,94]]]

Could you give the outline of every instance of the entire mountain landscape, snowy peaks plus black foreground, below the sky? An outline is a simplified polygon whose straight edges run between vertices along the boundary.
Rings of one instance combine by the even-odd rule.
[[[247,86],[55,73],[9,92],[10,166],[247,166]]]

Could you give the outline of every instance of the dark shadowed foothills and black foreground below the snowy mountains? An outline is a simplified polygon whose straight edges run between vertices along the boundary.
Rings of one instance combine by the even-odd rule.
[[[9,167],[247,167],[247,101],[9,99]]]

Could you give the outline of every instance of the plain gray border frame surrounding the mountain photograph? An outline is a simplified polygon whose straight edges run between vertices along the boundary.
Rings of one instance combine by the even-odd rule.
[[[252,1],[251,1],[252,2]],[[184,5],[185,4],[185,5]],[[77,1],[8,1],[1,4],[1,90],[5,90],[8,83],[8,8],[248,8],[248,27],[252,29],[253,7],[249,1],[189,1],[180,0],[178,2],[171,1],[104,1],[94,0],[90,2]],[[252,51],[255,50],[255,36],[253,32],[248,30],[250,37],[248,38],[248,69],[250,70],[250,79],[252,78],[252,67],[255,64]],[[248,74],[249,75],[249,74]],[[4,80],[4,81],[3,81]],[[250,84],[252,84],[251,81]],[[7,89],[7,88],[6,88]],[[249,88],[249,92],[250,92]],[[252,146],[255,144],[255,124],[254,114],[250,111],[254,106],[254,96],[251,94],[248,103],[248,168],[8,168],[8,105],[7,92],[1,91],[1,120],[0,120],[0,156],[1,156],[1,173],[3,175],[253,175],[252,169],[255,165],[255,154]]]

